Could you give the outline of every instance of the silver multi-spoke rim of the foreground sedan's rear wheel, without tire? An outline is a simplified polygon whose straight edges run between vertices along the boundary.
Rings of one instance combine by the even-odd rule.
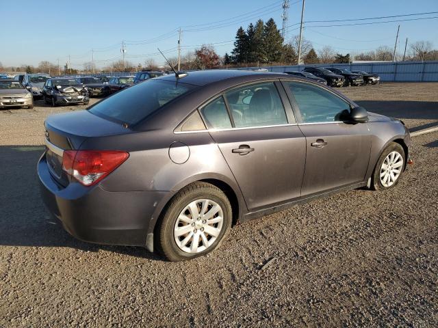
[[[186,253],[199,253],[214,244],[224,225],[224,213],[213,200],[194,200],[179,213],[175,243]]]

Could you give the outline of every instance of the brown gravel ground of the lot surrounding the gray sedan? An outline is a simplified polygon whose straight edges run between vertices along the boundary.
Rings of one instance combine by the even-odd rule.
[[[438,83],[398,85],[376,86],[372,101],[431,102],[404,120],[438,120],[427,98]],[[365,88],[342,92],[365,102]],[[415,165],[394,189],[249,221],[209,256],[171,263],[82,243],[49,218],[35,173],[42,122],[66,110],[0,112],[0,327],[436,327],[438,133],[413,138]]]

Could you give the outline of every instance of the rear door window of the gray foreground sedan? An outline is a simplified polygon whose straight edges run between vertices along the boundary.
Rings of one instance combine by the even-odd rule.
[[[287,124],[274,83],[246,85],[225,93],[236,128]]]

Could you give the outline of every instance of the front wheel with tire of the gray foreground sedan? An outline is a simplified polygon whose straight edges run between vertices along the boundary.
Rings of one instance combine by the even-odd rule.
[[[378,158],[372,174],[371,189],[384,190],[393,188],[398,184],[406,163],[406,155],[400,144],[389,143]]]

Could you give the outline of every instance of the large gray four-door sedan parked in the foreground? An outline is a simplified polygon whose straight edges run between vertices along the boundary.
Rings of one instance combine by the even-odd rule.
[[[249,70],[157,77],[51,115],[45,128],[38,176],[64,228],[168,260],[209,253],[232,223],[335,192],[390,189],[411,145],[400,120],[321,83]]]

